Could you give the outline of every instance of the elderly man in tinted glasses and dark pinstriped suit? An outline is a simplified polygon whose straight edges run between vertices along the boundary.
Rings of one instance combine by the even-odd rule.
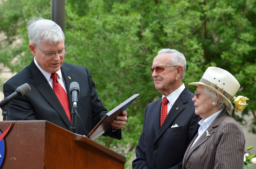
[[[153,60],[150,72],[163,96],[145,109],[133,169],[182,168],[183,156],[201,119],[195,114],[195,94],[182,83],[185,71],[186,59],[177,50],[162,49]]]

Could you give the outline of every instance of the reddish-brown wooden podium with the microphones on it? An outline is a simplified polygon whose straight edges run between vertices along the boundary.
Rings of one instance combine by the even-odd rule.
[[[3,169],[124,169],[125,157],[48,121],[0,121]]]

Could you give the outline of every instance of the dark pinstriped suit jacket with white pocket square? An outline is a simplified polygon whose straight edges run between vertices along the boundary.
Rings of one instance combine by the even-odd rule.
[[[133,169],[181,168],[189,143],[198,130],[200,117],[195,114],[191,93],[186,87],[173,104],[160,128],[162,98],[147,105],[142,134],[136,147]],[[177,109],[176,109],[177,108]],[[179,127],[171,128],[177,124]]]

